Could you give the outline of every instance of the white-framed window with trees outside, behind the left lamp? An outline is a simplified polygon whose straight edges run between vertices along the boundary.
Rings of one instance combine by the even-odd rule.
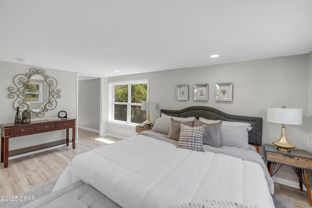
[[[148,81],[110,84],[110,120],[125,124],[138,124],[146,120],[142,102],[148,98]]]

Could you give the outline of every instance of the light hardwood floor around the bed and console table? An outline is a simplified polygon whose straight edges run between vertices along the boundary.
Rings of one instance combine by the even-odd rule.
[[[14,196],[59,178],[69,162],[78,154],[116,142],[111,136],[98,141],[98,133],[78,129],[79,142],[76,149],[61,147],[17,159],[9,160],[9,167],[0,164],[0,196]],[[289,198],[297,208],[310,208],[307,192],[275,183],[275,194]],[[312,207],[311,207],[312,208]]]

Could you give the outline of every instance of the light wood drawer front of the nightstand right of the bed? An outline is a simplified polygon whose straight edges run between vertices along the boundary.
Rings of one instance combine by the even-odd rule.
[[[302,157],[292,157],[274,152],[267,152],[267,160],[277,163],[287,164],[303,169],[312,169],[312,160]]]

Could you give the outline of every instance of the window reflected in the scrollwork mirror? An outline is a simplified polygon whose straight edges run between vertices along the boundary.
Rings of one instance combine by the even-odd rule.
[[[25,102],[42,103],[42,83],[29,82],[25,84]]]

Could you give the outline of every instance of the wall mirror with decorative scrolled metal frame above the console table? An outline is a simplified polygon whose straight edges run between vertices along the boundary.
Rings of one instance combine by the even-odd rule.
[[[43,69],[30,69],[29,73],[19,74],[13,78],[14,85],[9,87],[8,97],[15,99],[13,108],[30,111],[31,117],[43,117],[44,113],[57,107],[60,90],[58,81],[45,74]]]

